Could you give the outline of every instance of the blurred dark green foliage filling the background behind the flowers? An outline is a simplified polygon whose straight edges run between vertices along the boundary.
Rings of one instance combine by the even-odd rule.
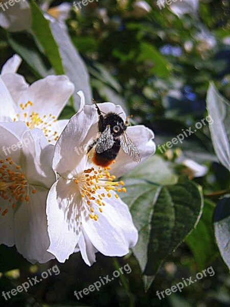
[[[55,1],[50,5],[61,3]],[[193,127],[208,114],[205,98],[209,81],[213,80],[218,91],[230,98],[230,49],[226,45],[226,37],[229,41],[229,2],[200,1],[197,16],[186,14],[181,18],[168,8],[159,10],[155,1],[148,3],[149,13],[136,9],[134,1],[128,0],[89,3],[82,10],[71,11],[66,27],[89,72],[92,97],[97,102],[121,104],[133,115],[134,123],[143,123],[153,129],[156,144],[164,144],[181,133],[182,128]],[[52,41],[45,24],[39,24],[36,10],[34,6],[34,34],[8,33],[0,28],[0,65],[18,53],[24,59],[19,73],[30,83],[52,72],[62,73],[58,60],[52,60],[52,51],[45,52],[45,46],[52,49]],[[47,42],[40,48],[35,37],[41,37],[42,31],[46,33],[43,37]],[[64,46],[65,42],[62,43]],[[76,71],[76,75],[78,73]],[[70,101],[61,118],[70,118],[76,108],[76,102]],[[202,178],[193,178],[178,163],[179,157],[205,164],[208,172]],[[61,271],[60,275],[49,277],[31,287],[27,294],[18,294],[7,303],[0,297],[1,305],[228,306],[230,277],[215,242],[213,214],[220,196],[229,193],[229,172],[218,163],[209,128],[204,126],[165,153],[157,150],[148,167],[148,179],[152,183],[175,184],[178,178],[186,182],[189,177],[202,187],[204,195],[203,214],[197,228],[166,258],[148,292],[145,292],[142,271],[133,254],[113,259],[98,253],[97,262],[91,268],[84,264],[79,253],[72,255],[65,264],[54,260],[32,266],[14,248],[1,246],[1,291],[9,291],[28,276],[39,275],[55,264]],[[145,180],[145,175],[139,179]],[[127,182],[129,180],[130,176],[126,178]],[[129,204],[128,196],[125,201]],[[140,201],[140,210],[142,206],[144,203]],[[229,208],[228,201],[225,208]],[[152,257],[150,262],[154,261]],[[116,268],[126,263],[132,268],[130,274],[77,301],[75,290],[88,287],[99,276],[111,276]],[[213,277],[204,277],[181,293],[162,300],[157,298],[157,290],[170,288],[182,277],[194,276],[211,265],[215,270]]]

